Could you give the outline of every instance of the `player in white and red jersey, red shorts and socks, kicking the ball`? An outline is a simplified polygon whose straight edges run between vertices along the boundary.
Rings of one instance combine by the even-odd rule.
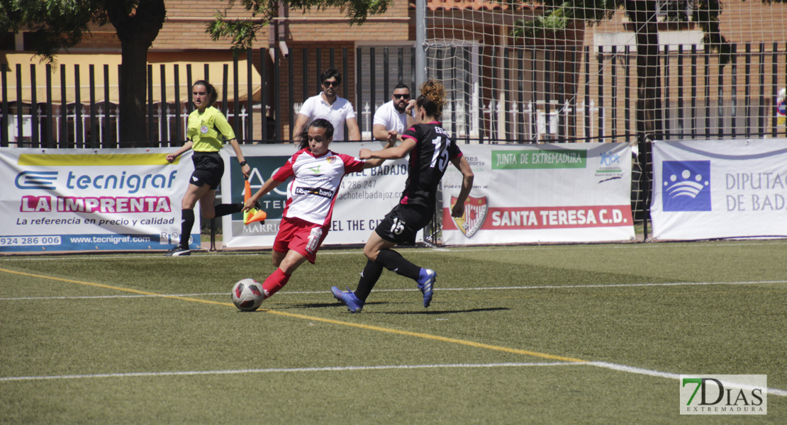
[[[262,284],[265,298],[275,294],[290,276],[309,260],[314,263],[317,251],[331,228],[331,214],[339,185],[346,174],[379,167],[385,159],[364,161],[328,149],[334,126],[327,119],[315,119],[301,137],[301,149],[273,174],[253,196],[246,200],[248,211],[266,193],[293,178],[287,186],[287,200],[273,243],[273,265],[276,269]],[[396,132],[388,138],[388,147],[396,141]]]

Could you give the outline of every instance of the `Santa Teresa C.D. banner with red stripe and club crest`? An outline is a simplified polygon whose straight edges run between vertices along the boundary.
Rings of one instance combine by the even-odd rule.
[[[475,181],[451,217],[462,174],[442,181],[448,245],[631,240],[631,148],[616,143],[461,145]]]

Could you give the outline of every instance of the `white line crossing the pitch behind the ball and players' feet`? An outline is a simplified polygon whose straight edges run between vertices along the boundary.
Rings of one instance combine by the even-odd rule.
[[[544,286],[499,286],[492,288],[435,288],[435,291],[520,291],[530,289],[582,289],[582,288],[646,288],[655,286],[704,286],[704,285],[756,285],[756,284],[787,284],[787,280],[752,280],[745,282],[666,282],[658,284],[593,284],[593,285],[544,285]],[[375,292],[407,292],[418,291],[408,289],[375,289]],[[279,291],[279,295],[328,294],[330,291]],[[117,299],[117,298],[161,298],[161,297],[199,297],[227,296],[227,292],[205,292],[195,294],[161,294],[161,295],[79,295],[61,297],[7,297],[0,301],[23,301],[35,299]]]

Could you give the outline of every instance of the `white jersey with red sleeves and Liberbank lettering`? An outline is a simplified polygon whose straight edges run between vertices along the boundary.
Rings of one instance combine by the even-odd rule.
[[[313,156],[308,148],[295,152],[273,174],[277,181],[294,177],[287,185],[283,216],[327,225],[331,222],[342,178],[346,174],[364,170],[365,163],[353,156],[330,150],[323,156]]]

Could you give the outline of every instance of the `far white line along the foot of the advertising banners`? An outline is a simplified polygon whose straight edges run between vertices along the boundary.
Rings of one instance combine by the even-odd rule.
[[[677,241],[675,243],[652,243],[652,244],[545,244],[545,245],[518,245],[518,246],[499,246],[499,247],[417,247],[417,248],[405,248],[406,250],[414,250],[418,252],[449,252],[449,253],[462,253],[462,252],[486,252],[486,251],[532,251],[532,250],[569,250],[569,249],[590,249],[590,248],[598,248],[604,247],[608,249],[656,249],[656,248],[674,248],[675,244],[704,244],[704,247],[740,247],[740,246],[759,246],[759,245],[783,245],[787,244],[787,240],[778,239],[778,240],[747,240],[747,241],[729,241],[729,242],[707,242],[707,241],[692,241],[692,240],[685,240],[685,241]],[[256,248],[256,247],[249,247],[249,250],[257,250],[257,252],[249,252],[249,251],[218,251],[215,253],[211,253],[210,255],[239,255],[239,256],[257,256],[257,255],[270,255],[271,248]],[[91,252],[90,258],[91,261],[98,261],[103,259],[150,259],[150,258],[161,258],[165,259],[162,255],[164,252],[164,248],[161,248],[161,251],[157,251],[155,253],[151,252],[150,254],[119,254],[119,255],[95,255]],[[199,251],[194,251],[199,252]],[[57,255],[56,252],[50,253],[50,255]],[[320,251],[320,256],[322,255],[363,255],[361,253],[360,248],[353,249],[353,250],[331,250],[325,249]],[[0,255],[0,262],[17,262],[17,261],[65,261],[65,260],[83,260],[86,257],[84,255],[66,255],[61,257],[50,257],[50,256],[42,256],[36,255],[31,257],[11,257],[3,258]],[[204,260],[204,257],[200,255],[197,256],[187,256],[187,257],[178,257],[172,261],[179,261],[181,259],[188,261],[189,258],[199,258]]]

